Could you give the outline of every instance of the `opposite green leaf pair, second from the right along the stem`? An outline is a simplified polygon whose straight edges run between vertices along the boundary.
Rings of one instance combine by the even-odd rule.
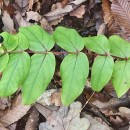
[[[95,91],[101,91],[109,82],[113,73],[114,61],[110,53],[108,39],[103,35],[84,38],[85,46],[89,50],[98,54],[108,54],[108,56],[97,56],[92,66],[91,85]]]

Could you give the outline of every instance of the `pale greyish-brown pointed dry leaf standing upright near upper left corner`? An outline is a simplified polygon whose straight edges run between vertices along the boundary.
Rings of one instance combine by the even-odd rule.
[[[3,16],[2,16],[2,21],[4,24],[3,31],[7,32],[14,32],[14,22],[11,19],[10,15],[7,13],[7,11],[4,11]]]

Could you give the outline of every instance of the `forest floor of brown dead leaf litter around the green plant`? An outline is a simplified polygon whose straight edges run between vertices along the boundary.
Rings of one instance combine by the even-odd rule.
[[[49,33],[64,26],[83,37],[116,34],[130,41],[129,0],[0,0],[0,8],[0,32],[17,33],[19,27],[38,24]],[[57,46],[54,50],[63,51]],[[92,65],[95,55],[88,58]],[[56,59],[53,80],[35,104],[23,105],[20,90],[0,98],[0,130],[130,130],[130,91],[117,98],[111,82],[93,93],[89,76],[83,93],[63,106],[59,75],[63,55]]]

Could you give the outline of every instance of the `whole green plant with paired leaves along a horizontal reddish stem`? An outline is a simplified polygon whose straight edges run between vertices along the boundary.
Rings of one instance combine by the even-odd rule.
[[[67,51],[60,66],[64,105],[72,103],[86,84],[89,61],[81,52],[84,46],[98,54],[91,70],[94,91],[101,91],[109,80],[118,97],[130,88],[130,43],[119,36],[82,38],[74,29],[64,27],[57,27],[50,35],[38,25],[21,27],[16,35],[0,35],[0,97],[12,95],[21,86],[23,103],[34,103],[53,78],[56,52],[51,49],[55,43]],[[115,64],[113,57],[117,59]]]

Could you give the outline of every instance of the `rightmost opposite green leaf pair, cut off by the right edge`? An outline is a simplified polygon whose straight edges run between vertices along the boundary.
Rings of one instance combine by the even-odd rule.
[[[115,35],[109,38],[109,43],[113,56],[126,58],[115,62],[112,76],[117,96],[121,97],[130,88],[130,43]]]

